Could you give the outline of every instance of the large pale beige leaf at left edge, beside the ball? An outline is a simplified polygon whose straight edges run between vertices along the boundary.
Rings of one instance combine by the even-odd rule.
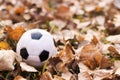
[[[0,50],[0,71],[3,70],[14,70],[14,62],[17,60],[18,62],[22,61],[20,55],[15,53],[12,50]]]

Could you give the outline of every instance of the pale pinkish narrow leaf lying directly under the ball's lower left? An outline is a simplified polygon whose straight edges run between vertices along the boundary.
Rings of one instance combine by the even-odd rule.
[[[26,64],[25,62],[20,62],[20,67],[22,71],[27,71],[27,72],[38,72],[34,67]]]

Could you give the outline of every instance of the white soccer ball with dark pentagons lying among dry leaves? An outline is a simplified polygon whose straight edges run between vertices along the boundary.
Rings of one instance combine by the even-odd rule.
[[[18,41],[16,52],[27,64],[41,67],[46,60],[57,54],[57,48],[50,33],[42,29],[31,29]]]

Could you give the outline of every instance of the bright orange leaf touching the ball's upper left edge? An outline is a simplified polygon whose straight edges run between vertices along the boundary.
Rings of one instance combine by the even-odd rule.
[[[21,26],[18,26],[14,30],[8,32],[8,37],[12,40],[18,41],[24,32],[25,29]]]

